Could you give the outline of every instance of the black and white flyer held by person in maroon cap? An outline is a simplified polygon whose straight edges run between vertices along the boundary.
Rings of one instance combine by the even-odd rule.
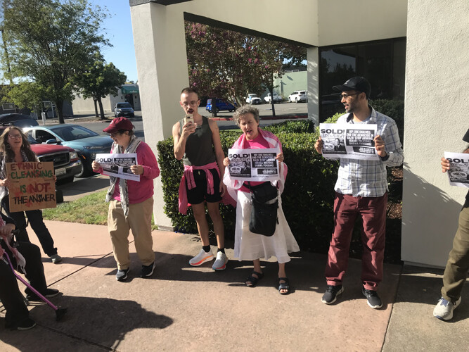
[[[136,153],[96,154],[95,161],[101,164],[104,175],[140,181],[140,175],[134,175],[130,170],[131,165],[138,165]]]

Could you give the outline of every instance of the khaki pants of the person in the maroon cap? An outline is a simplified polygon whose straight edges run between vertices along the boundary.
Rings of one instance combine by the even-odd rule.
[[[153,212],[153,197],[137,204],[129,205],[129,215],[124,216],[120,201],[110,201],[108,213],[108,231],[113,243],[114,258],[117,268],[128,269],[129,230],[135,239],[135,249],[143,265],[150,265],[155,261],[153,239],[151,237],[151,215]]]

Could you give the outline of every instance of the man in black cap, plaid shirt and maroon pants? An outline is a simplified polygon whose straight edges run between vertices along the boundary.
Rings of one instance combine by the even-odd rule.
[[[333,304],[336,297],[344,291],[342,279],[347,270],[349,244],[355,219],[361,218],[364,243],[361,258],[362,293],[368,306],[378,309],[383,306],[377,290],[383,279],[387,208],[386,168],[401,165],[404,154],[396,122],[389,116],[375,111],[368,103],[371,87],[366,78],[352,77],[333,89],[341,92],[341,101],[347,111],[338,118],[338,125],[376,125],[377,132],[373,143],[379,159],[340,158],[338,180],[334,187],[334,231],[326,264],[327,289],[321,301]],[[314,147],[318,153],[322,153],[321,137]]]

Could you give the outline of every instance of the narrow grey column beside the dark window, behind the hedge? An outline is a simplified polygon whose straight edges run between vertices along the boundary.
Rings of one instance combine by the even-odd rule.
[[[306,51],[308,61],[308,118],[319,126],[319,49],[311,46]]]

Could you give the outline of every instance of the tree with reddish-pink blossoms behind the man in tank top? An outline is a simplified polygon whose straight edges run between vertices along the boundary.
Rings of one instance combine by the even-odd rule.
[[[298,46],[186,21],[186,49],[191,87],[201,95],[245,104],[248,93],[273,93],[274,74],[285,63],[301,62]]]

